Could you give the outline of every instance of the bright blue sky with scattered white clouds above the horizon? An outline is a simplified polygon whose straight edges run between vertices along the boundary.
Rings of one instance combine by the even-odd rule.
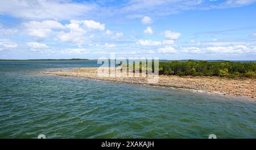
[[[256,59],[256,0],[0,1],[0,59]]]

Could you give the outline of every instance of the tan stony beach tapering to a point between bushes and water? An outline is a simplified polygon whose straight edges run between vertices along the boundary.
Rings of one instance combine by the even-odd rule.
[[[256,79],[239,78],[229,79],[216,76],[166,76],[159,75],[158,83],[148,83],[147,78],[142,77],[100,77],[97,75],[97,67],[69,68],[42,72],[43,74],[76,76],[110,82],[122,82],[130,84],[154,85],[174,87],[218,93],[222,95],[256,97]]]

